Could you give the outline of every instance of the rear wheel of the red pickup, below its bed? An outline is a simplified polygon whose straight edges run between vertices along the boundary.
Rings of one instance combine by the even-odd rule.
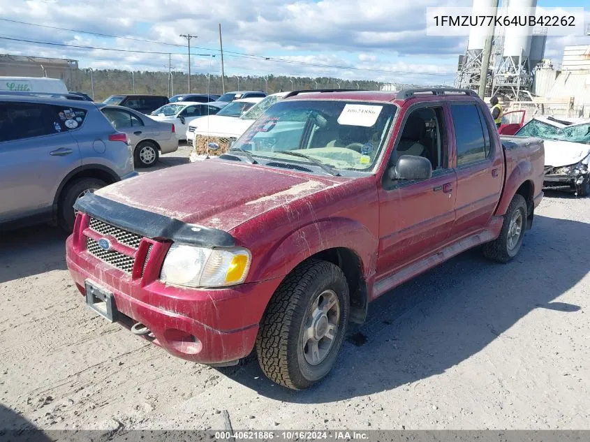
[[[483,246],[483,254],[486,258],[499,263],[508,263],[517,255],[526,229],[526,214],[526,200],[522,195],[516,194],[510,201],[504,216],[500,236]]]

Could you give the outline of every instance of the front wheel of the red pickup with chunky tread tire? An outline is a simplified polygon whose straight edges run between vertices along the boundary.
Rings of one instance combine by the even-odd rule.
[[[260,323],[256,353],[272,381],[303,390],[332,369],[350,314],[342,270],[311,259],[276,289]]]

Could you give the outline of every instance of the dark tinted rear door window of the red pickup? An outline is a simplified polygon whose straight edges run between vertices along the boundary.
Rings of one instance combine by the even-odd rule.
[[[452,123],[457,140],[457,167],[485,160],[486,148],[482,121],[475,104],[452,104]]]

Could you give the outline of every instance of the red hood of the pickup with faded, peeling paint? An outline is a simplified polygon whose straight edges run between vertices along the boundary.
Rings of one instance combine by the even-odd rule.
[[[229,231],[249,219],[344,182],[219,159],[124,179],[96,195],[186,223]]]

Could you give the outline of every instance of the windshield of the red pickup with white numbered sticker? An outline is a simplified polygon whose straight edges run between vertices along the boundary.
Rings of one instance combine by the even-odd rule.
[[[306,162],[281,154],[297,152],[333,168],[367,171],[383,149],[396,109],[358,101],[280,101],[232,147],[256,156]]]

